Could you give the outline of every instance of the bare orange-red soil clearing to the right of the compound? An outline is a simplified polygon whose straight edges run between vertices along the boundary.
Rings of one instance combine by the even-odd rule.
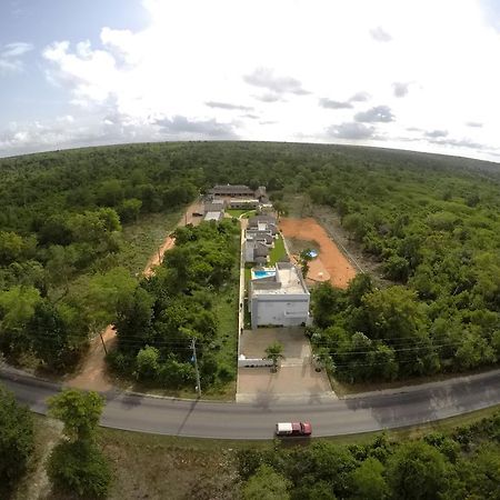
[[[356,270],[346,259],[327,234],[327,231],[312,218],[307,219],[280,219],[280,229],[284,238],[317,241],[320,252],[317,259],[309,264],[310,277],[313,281],[320,281],[318,272],[324,268],[330,274],[330,283],[337,288],[347,288],[349,281],[354,278]],[[314,263],[316,260],[320,262]],[[323,274],[324,278],[324,274]]]

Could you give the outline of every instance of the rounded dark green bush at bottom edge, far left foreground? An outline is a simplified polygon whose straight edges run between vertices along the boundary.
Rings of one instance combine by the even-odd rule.
[[[56,490],[81,498],[106,498],[111,471],[106,457],[91,442],[62,442],[49,457],[47,473]]]

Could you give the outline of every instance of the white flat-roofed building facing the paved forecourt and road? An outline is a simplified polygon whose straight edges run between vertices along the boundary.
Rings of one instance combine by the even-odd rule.
[[[289,262],[278,262],[276,274],[250,281],[249,311],[252,329],[262,326],[309,324],[309,290],[301,272]]]

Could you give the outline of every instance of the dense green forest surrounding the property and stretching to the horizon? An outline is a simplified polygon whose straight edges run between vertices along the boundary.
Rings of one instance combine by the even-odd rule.
[[[122,332],[111,357],[113,367],[133,366],[139,379],[157,380],[161,367],[182,358],[162,347],[189,337],[186,329],[197,331],[199,309],[211,318],[206,296],[221,286],[219,272],[223,274],[226,264],[218,259],[229,259],[231,250],[229,246],[226,254],[199,241],[187,242],[166,259],[157,278],[139,282],[117,258],[122,229],[150,213],[179,210],[226,182],[267,186],[281,212],[297,194],[310,200],[311,214],[317,206],[331,209],[353,243],[379,261],[383,282],[368,277],[346,292],[321,287],[313,294],[316,324],[309,333],[322,356],[332,357],[339,377],[392,380],[498,362],[497,163],[371,148],[252,142],[129,144],[1,159],[3,356],[68,371],[89,338],[113,322]],[[213,229],[204,231],[210,239]],[[186,234],[179,236],[181,241]],[[196,231],[189,236],[199,237]],[[224,234],[219,237],[223,241]],[[213,269],[197,270],[201,281],[172,290],[173,269],[184,263],[178,252],[209,252]],[[128,308],[134,303],[152,316],[141,326],[146,330],[134,332],[141,340],[128,349]],[[176,320],[179,310],[191,307],[197,313],[183,323]],[[194,333],[209,341],[209,350],[211,334],[203,328],[212,320]],[[138,357],[144,360],[139,363],[143,371]],[[149,366],[156,367],[152,374]],[[212,369],[224,378],[226,368],[212,363]],[[191,383],[191,374],[179,380]]]

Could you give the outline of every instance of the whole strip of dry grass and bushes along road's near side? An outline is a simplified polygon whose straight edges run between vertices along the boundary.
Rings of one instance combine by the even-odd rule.
[[[33,416],[32,421],[37,448],[27,472],[12,484],[16,500],[29,498],[28,484],[38,480],[33,471],[47,467],[42,449],[48,437],[56,438],[51,419]],[[218,441],[106,428],[96,429],[93,436],[113,478],[109,499],[490,500],[497,498],[500,486],[498,409],[417,430],[331,439]],[[0,454],[0,464],[12,458]],[[42,493],[48,500],[74,498],[61,496],[50,484]]]

